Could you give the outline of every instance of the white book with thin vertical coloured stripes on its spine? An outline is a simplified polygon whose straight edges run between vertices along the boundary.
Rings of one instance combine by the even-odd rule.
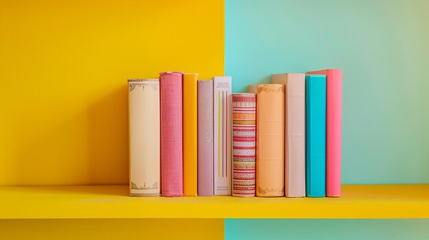
[[[231,77],[213,78],[215,195],[231,195]]]

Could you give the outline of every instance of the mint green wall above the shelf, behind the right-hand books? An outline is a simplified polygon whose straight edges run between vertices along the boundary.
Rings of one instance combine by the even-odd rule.
[[[429,183],[429,1],[226,0],[233,91],[343,69],[342,183]]]

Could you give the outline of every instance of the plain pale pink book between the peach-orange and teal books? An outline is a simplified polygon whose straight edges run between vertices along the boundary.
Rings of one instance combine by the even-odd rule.
[[[306,196],[306,82],[304,73],[271,75],[284,84],[284,195]]]

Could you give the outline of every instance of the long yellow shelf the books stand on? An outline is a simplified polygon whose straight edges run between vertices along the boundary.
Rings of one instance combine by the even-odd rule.
[[[128,186],[0,187],[0,219],[429,218],[429,185],[343,185],[341,198],[130,198]]]

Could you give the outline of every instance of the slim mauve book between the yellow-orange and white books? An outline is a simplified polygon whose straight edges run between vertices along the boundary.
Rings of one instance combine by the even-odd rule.
[[[198,81],[198,196],[213,196],[213,81]]]

